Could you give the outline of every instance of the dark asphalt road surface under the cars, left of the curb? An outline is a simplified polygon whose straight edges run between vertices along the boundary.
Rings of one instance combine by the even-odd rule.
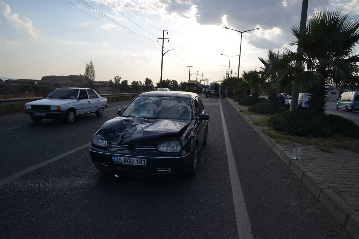
[[[238,238],[219,100],[253,238],[350,238],[225,99],[201,99],[209,141],[195,178],[115,178],[76,149],[128,101],[74,124],[2,117],[0,180],[55,160],[0,185],[1,238]]]

